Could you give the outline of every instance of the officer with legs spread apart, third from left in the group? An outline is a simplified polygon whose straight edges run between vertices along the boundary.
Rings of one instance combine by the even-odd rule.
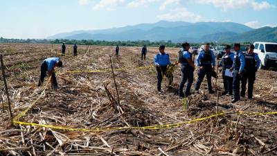
[[[213,65],[213,67],[212,67]],[[198,67],[198,78],[195,85],[195,92],[199,92],[200,85],[206,75],[208,81],[208,92],[214,94],[212,88],[212,72],[215,71],[215,55],[213,51],[210,50],[210,44],[206,43],[204,49],[199,51],[197,55],[197,67]]]

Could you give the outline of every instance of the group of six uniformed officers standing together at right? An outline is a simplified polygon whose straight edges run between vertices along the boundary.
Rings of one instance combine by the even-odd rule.
[[[190,44],[185,42],[181,45],[181,51],[179,51],[179,61],[181,64],[181,80],[179,84],[179,96],[181,98],[191,95],[190,88],[193,85],[193,73],[195,71],[195,62],[193,60],[193,53],[190,53]],[[163,76],[169,78],[169,88],[172,84],[172,76],[166,74],[168,66],[171,65],[170,55],[165,52],[165,46],[159,46],[159,53],[154,57],[154,64],[157,67],[158,83],[157,89],[161,92],[161,81]],[[245,97],[246,85],[248,81],[248,98],[253,98],[253,84],[256,80],[256,72],[260,67],[260,59],[256,53],[253,53],[254,45],[250,44],[247,53],[240,51],[240,44],[234,44],[234,51],[231,52],[231,46],[225,47],[226,53],[223,55],[222,60],[217,64],[222,67],[222,78],[224,83],[223,95],[233,95],[231,103],[235,103],[240,100],[240,97]],[[211,78],[215,73],[215,55],[210,49],[210,44],[206,43],[204,49],[201,49],[197,55],[197,81],[195,84],[195,93],[199,93],[200,85],[206,76],[208,83],[208,92],[214,94]],[[226,74],[226,70],[230,74]],[[216,76],[215,76],[216,77]],[[186,91],[184,93],[184,85],[186,84]],[[240,91],[240,85],[242,86]]]

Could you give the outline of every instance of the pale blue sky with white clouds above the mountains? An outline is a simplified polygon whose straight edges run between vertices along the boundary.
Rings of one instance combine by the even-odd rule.
[[[0,37],[21,39],[161,20],[260,28],[277,26],[277,0],[1,0],[0,15]]]

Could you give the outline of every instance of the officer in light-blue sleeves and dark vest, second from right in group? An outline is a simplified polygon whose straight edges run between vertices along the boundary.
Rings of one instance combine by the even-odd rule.
[[[234,98],[231,101],[235,103],[240,100],[240,80],[242,76],[242,71],[244,69],[244,54],[240,51],[240,44],[234,44],[235,56],[233,60],[233,67],[231,67],[231,71],[233,71],[233,94]]]

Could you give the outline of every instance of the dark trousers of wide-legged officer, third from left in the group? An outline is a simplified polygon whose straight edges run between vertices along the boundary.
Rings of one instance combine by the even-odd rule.
[[[203,69],[199,69],[198,71],[198,78],[197,78],[197,82],[196,82],[196,85],[195,85],[195,90],[199,90],[200,88],[200,85],[206,75],[206,78],[207,78],[207,82],[208,82],[208,91],[212,91],[213,88],[212,88],[212,71],[213,71],[213,68],[212,68],[212,65],[211,64],[204,64],[203,65]]]

